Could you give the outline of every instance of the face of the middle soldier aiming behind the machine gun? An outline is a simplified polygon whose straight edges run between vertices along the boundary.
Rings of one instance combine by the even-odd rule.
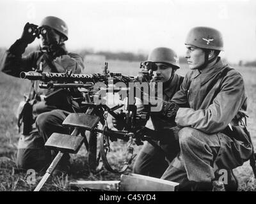
[[[153,71],[155,82],[166,82],[172,77],[172,66],[165,63],[155,63],[156,68]]]

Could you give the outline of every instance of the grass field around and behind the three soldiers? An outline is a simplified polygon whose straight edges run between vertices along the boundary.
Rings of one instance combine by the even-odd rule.
[[[102,71],[104,62],[84,62],[86,71],[84,73],[99,73]],[[0,63],[1,64],[1,63]],[[136,75],[139,68],[139,62],[109,61],[109,70],[111,72],[120,72],[124,75]],[[254,146],[256,147],[256,68],[236,67],[243,75],[248,95],[248,129],[252,135]],[[184,75],[188,71],[188,66],[182,66],[178,71]],[[30,82],[20,78],[10,77],[0,72],[0,191],[31,191],[35,184],[28,184],[26,172],[20,171],[15,166],[15,155],[19,134],[17,131],[17,119],[15,119],[15,110],[19,102],[23,99],[24,92],[28,91]],[[120,143],[120,147],[125,147]],[[135,152],[140,150],[136,147]],[[113,154],[111,161],[118,160],[118,156],[124,152],[122,148]],[[122,158],[119,158],[119,160]],[[120,164],[117,162],[116,165]],[[131,168],[128,172],[131,171]],[[252,169],[248,162],[243,166],[236,168],[235,173],[239,180],[239,191],[255,191],[256,182],[253,179]],[[36,184],[42,178],[42,174],[36,174]],[[69,180],[118,180],[120,175],[109,173],[106,170],[97,174],[90,173],[88,163],[86,162],[86,150],[82,148],[78,154],[72,156],[72,175],[69,178],[49,179],[42,190],[44,191],[70,191],[68,187]]]

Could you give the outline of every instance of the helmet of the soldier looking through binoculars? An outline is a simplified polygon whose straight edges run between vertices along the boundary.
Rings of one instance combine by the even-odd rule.
[[[56,31],[58,31],[59,33],[63,34],[65,36],[65,40],[68,40],[68,27],[67,24],[61,20],[58,17],[45,17],[41,24],[41,26],[47,25],[49,27],[51,27],[52,29],[55,29]]]

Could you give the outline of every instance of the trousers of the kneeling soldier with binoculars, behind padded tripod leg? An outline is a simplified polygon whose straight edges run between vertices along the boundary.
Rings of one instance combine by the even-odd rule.
[[[42,171],[47,168],[56,155],[56,151],[47,150],[45,142],[52,133],[68,134],[68,128],[63,128],[62,122],[69,112],[64,110],[51,110],[40,113],[35,120],[35,128],[28,136],[20,135],[16,163],[19,168]],[[63,157],[69,159],[68,154]]]

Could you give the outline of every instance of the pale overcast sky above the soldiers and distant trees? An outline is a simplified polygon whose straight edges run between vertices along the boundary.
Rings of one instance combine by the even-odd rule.
[[[184,55],[189,29],[203,25],[223,33],[222,55],[229,61],[256,59],[256,1],[4,0],[0,2],[0,46],[10,47],[26,22],[40,24],[47,15],[67,22],[69,49],[147,53],[164,46]]]

